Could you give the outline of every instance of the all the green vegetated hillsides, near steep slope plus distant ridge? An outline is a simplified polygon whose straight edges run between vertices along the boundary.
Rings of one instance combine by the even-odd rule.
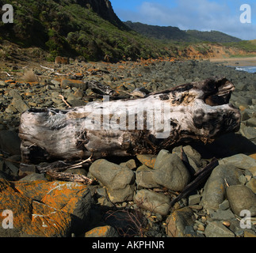
[[[40,47],[48,52],[48,60],[54,60],[57,55],[90,61],[186,57],[191,44],[196,51],[207,55],[210,48],[207,43],[215,42],[246,52],[256,51],[255,43],[222,32],[123,23],[109,0],[0,0],[0,6],[6,3],[13,6],[14,23],[0,22],[1,59],[1,54],[10,55],[8,51],[2,53],[4,41],[21,48]]]

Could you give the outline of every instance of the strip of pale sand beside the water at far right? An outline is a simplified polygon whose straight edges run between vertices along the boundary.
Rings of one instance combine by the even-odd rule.
[[[256,56],[246,58],[210,59],[210,62],[221,62],[226,66],[256,66]]]

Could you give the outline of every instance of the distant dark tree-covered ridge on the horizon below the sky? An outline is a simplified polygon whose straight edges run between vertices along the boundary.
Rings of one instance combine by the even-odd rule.
[[[200,32],[197,30],[182,31],[181,29],[173,26],[158,26],[158,25],[145,25],[139,22],[132,23],[127,21],[124,23],[129,28],[144,36],[155,38],[159,40],[173,40],[182,42],[217,42],[217,43],[232,43],[241,41],[238,38],[229,36],[223,32],[211,31]]]

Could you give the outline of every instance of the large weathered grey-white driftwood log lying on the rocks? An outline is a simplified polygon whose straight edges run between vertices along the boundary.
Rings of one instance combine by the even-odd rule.
[[[234,89],[216,77],[143,98],[30,109],[21,115],[22,161],[129,156],[158,153],[178,142],[212,142],[239,130],[239,110],[228,104]]]

